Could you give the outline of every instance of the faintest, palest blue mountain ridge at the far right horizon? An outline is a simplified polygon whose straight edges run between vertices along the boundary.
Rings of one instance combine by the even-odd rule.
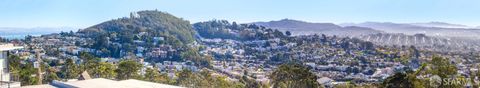
[[[428,36],[479,38],[480,29],[465,25],[442,22],[431,23],[392,23],[392,22],[364,22],[346,23],[342,26],[368,27],[387,33],[404,33],[407,35],[426,34]]]

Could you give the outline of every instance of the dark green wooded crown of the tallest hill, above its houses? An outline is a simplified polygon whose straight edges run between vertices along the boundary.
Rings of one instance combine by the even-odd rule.
[[[87,36],[102,36],[117,34],[122,39],[133,39],[135,34],[147,35],[147,38],[158,36],[173,36],[183,43],[191,43],[195,31],[189,21],[175,17],[171,14],[146,10],[130,14],[129,18],[119,18],[97,24],[79,31]],[[128,40],[124,41],[128,42]]]

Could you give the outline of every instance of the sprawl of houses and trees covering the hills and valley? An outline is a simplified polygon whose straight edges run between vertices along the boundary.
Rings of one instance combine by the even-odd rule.
[[[302,35],[305,31],[282,30],[268,22],[191,24],[147,10],[78,31],[0,42],[23,47],[8,56],[11,80],[22,86],[37,85],[39,79],[41,84],[81,80],[85,74],[193,88],[480,85],[480,43],[473,39],[359,26],[330,29]],[[465,80],[432,85],[437,76]]]

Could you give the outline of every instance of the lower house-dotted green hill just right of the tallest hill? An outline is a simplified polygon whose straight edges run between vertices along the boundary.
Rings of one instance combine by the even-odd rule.
[[[226,20],[213,20],[193,24],[193,28],[204,38],[221,38],[234,40],[264,40],[282,38],[285,35],[276,30],[255,24],[229,23]]]

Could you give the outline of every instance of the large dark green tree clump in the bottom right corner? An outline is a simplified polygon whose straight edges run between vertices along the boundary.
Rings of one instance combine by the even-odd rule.
[[[420,75],[430,75],[428,78],[418,78]],[[439,80],[431,79],[434,76],[438,76]],[[478,75],[472,75],[478,76]],[[462,79],[464,76],[458,75],[457,67],[454,63],[450,62],[448,58],[442,58],[434,56],[429,63],[424,63],[416,71],[406,71],[401,73],[396,73],[382,83],[382,87],[385,88],[461,88],[466,84],[457,84],[457,82],[452,84],[447,84],[446,81],[442,79],[446,78],[455,78]],[[456,80],[456,81],[472,81],[473,87],[478,87],[479,84],[473,82],[474,79],[470,80]],[[463,83],[463,82],[462,82]]]

